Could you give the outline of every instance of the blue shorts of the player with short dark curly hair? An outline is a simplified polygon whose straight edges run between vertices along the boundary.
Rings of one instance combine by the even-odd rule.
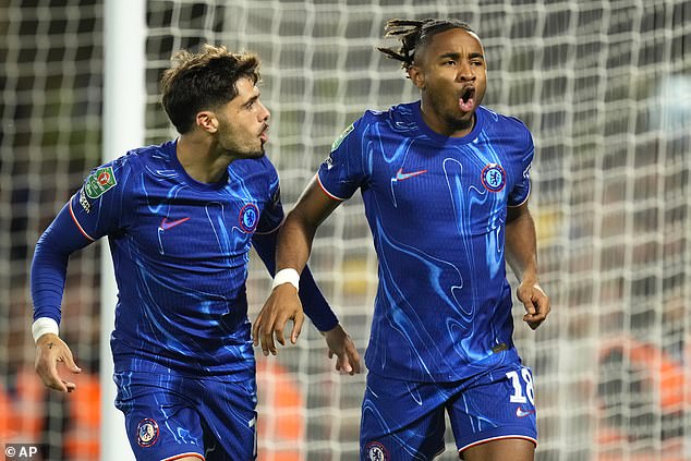
[[[256,380],[238,383],[146,372],[114,374],[137,460],[256,459]]]

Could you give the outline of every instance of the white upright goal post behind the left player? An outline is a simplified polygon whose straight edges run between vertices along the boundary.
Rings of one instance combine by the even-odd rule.
[[[104,162],[144,144],[146,100],[146,1],[106,0],[104,10]],[[100,242],[100,384],[102,461],[134,460],[124,417],[113,405],[116,385],[110,331],[114,325],[118,289],[108,240]]]

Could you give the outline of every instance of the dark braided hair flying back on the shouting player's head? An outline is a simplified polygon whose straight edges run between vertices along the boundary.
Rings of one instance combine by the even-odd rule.
[[[377,48],[388,58],[401,61],[401,68],[408,71],[415,62],[415,51],[422,48],[436,34],[461,28],[474,31],[466,23],[459,20],[389,20],[384,27],[385,38],[400,37],[401,47],[398,50],[391,48]]]

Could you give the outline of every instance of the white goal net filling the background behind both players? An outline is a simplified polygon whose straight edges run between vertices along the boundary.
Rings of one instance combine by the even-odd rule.
[[[145,108],[145,142],[175,135],[158,102],[172,52],[255,51],[289,209],[365,109],[417,98],[375,49],[391,45],[386,21],[469,22],[486,48],[484,105],[523,120],[536,145],[531,210],[553,313],[531,331],[514,310],[535,375],[536,458],[691,459],[691,3],[462,3],[149,0],[147,96],[131,101]],[[86,372],[73,395],[46,392],[33,374],[28,272],[38,235],[101,161],[107,20],[101,0],[0,2],[0,442],[39,444],[45,459],[93,460],[100,447],[99,245],[70,263],[61,331]],[[354,197],[319,228],[310,262],[361,353],[377,284],[371,241]],[[270,284],[257,260],[252,319]],[[364,374],[337,374],[310,324],[298,345],[257,362],[260,460],[357,459]],[[439,459],[458,459],[448,433]]]

